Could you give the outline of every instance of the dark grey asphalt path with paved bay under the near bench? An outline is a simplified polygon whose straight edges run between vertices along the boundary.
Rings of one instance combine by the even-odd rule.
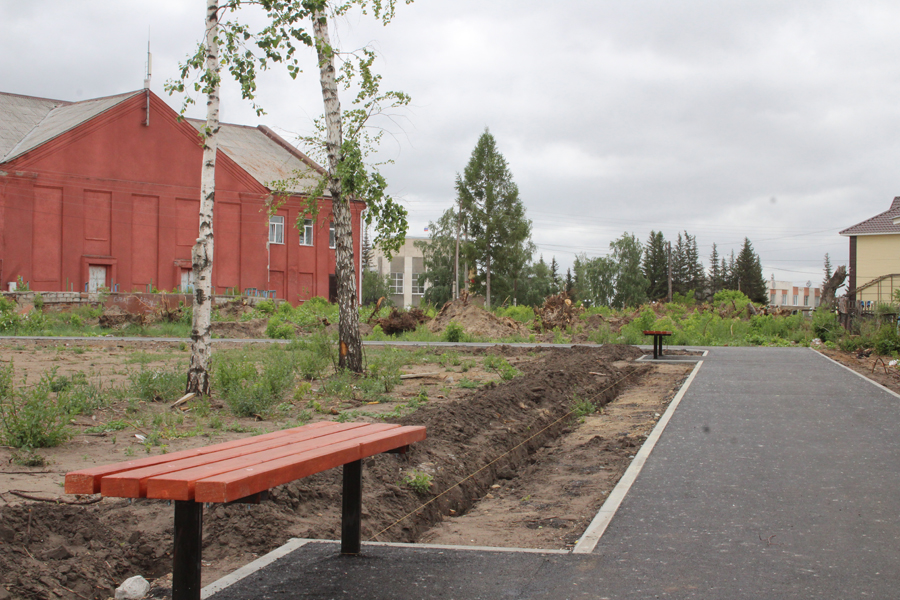
[[[711,348],[593,554],[304,546],[232,598],[897,598],[900,399],[808,349]]]

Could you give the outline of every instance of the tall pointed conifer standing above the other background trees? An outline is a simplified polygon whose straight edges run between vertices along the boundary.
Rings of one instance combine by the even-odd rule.
[[[457,176],[456,191],[469,223],[467,250],[476,267],[474,287],[484,292],[485,305],[490,308],[492,292],[503,297],[515,294],[534,244],[519,188],[487,128],[463,176]]]

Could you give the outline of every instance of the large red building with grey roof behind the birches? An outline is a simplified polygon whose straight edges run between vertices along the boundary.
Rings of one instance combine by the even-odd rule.
[[[199,121],[149,90],[83,102],[0,93],[0,285],[120,292],[190,285]],[[273,218],[271,182],[306,174]],[[216,293],[334,296],[331,201],[296,222],[321,167],[265,126],[223,125],[216,161]],[[353,202],[359,272],[360,213]]]

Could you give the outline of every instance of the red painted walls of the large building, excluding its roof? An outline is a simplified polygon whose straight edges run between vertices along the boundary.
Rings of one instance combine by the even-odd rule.
[[[194,128],[140,94],[0,167],[0,285],[21,276],[37,291],[83,291],[91,265],[119,291],[171,290],[191,268],[202,150]],[[302,199],[288,198],[285,243],[267,244],[269,190],[220,152],[216,162],[216,292],[277,290],[292,304],[328,297],[331,202],[320,201],[315,243],[299,245]],[[353,203],[354,256],[360,219]]]

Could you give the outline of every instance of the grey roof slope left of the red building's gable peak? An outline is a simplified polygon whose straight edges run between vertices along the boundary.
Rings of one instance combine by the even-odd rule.
[[[82,102],[0,93],[0,163],[34,150],[141,92]]]

